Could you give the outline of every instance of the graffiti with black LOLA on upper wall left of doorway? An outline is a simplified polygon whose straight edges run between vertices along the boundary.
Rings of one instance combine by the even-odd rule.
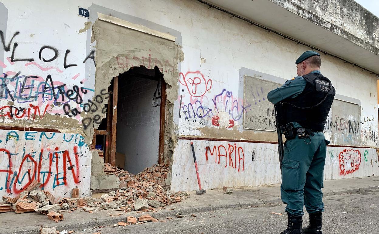
[[[25,50],[26,45],[23,45],[24,49],[19,49],[20,45],[16,42],[18,35],[19,31],[6,41],[3,31],[0,31],[2,49],[9,53],[7,60],[1,61],[3,68],[16,67],[16,65],[18,68],[24,67],[22,71],[8,69],[0,74],[0,101],[7,101],[7,104],[0,107],[0,115],[9,119],[35,120],[42,119],[46,113],[50,113],[66,114],[80,119],[77,113],[85,107],[85,100],[93,95],[88,91],[94,92],[94,90],[83,85],[84,79],[80,85],[76,84],[79,83],[75,80],[80,73],[72,73],[72,68],[88,60],[92,60],[95,64],[95,51],[89,52],[82,58],[83,61],[74,62],[73,57],[70,57],[70,49],[66,49],[64,56],[60,50],[49,45],[37,46],[35,49],[28,48],[28,50]],[[28,54],[30,51],[33,53]],[[58,63],[58,60],[62,61],[61,57],[63,57],[62,64]],[[8,104],[9,102],[11,104]],[[68,109],[73,113],[67,114]]]

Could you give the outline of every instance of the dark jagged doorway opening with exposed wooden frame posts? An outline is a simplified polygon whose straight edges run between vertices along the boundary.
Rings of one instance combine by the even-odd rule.
[[[110,108],[97,130],[105,133],[104,162],[133,174],[161,163],[165,90],[163,74],[157,67],[132,67],[113,78]]]

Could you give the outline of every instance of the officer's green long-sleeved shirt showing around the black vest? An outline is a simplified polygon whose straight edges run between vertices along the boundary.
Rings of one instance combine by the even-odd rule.
[[[319,70],[315,70],[310,73],[321,74]],[[267,99],[275,105],[286,98],[295,98],[304,91],[306,84],[307,81],[305,81],[304,77],[294,77],[291,80],[287,80],[281,87],[271,90],[267,94]],[[293,126],[301,127],[298,122],[293,122]]]

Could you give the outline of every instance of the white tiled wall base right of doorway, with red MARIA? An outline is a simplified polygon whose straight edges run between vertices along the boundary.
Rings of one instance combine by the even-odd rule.
[[[180,150],[174,153],[173,191],[198,189],[190,143],[190,140],[179,140],[176,146]],[[208,146],[210,150],[206,150]],[[204,189],[281,182],[277,144],[196,140],[194,148]],[[340,161],[342,156],[345,157],[343,162]],[[377,160],[375,149],[328,147],[324,179],[377,175]],[[351,163],[356,166],[351,167]]]

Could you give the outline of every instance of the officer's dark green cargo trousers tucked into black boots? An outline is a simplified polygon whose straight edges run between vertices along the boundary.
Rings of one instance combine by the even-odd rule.
[[[285,212],[304,215],[324,211],[323,192],[326,146],[324,133],[299,139],[298,136],[284,143],[282,165],[282,201],[287,204]]]

